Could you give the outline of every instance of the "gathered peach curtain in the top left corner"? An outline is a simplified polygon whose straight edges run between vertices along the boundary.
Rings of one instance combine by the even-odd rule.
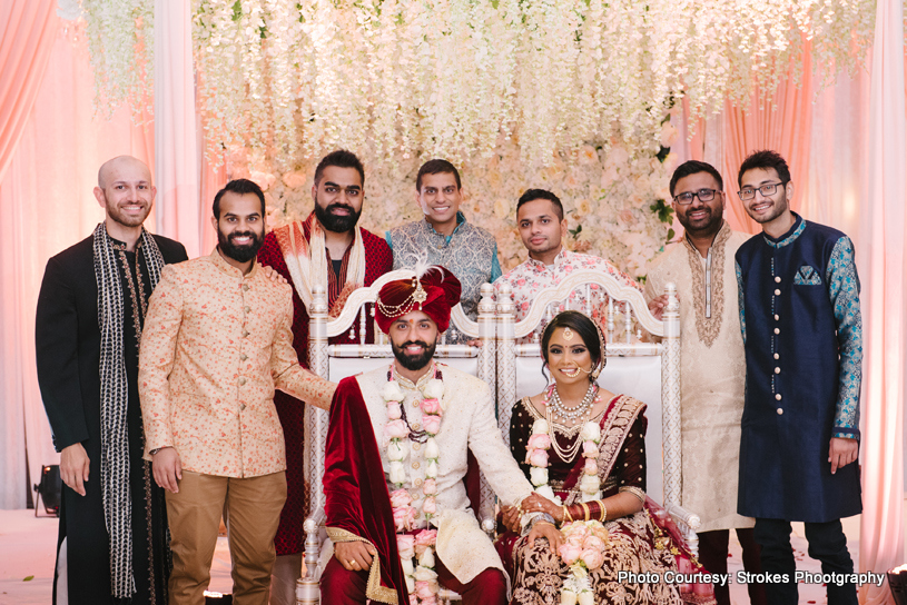
[[[31,115],[57,33],[56,0],[0,2],[0,181]]]

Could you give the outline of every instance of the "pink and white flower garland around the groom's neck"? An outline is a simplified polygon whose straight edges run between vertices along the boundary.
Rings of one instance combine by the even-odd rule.
[[[431,371],[434,377],[423,387],[424,398],[420,404],[422,409],[422,433],[425,436],[425,478],[422,482],[422,513],[425,520],[431,523],[437,514],[437,469],[441,452],[435,436],[441,430],[443,407],[441,398],[444,395],[444,384],[436,367]],[[414,528],[418,516],[410,492],[403,486],[406,483],[406,468],[403,460],[410,452],[407,443],[412,430],[404,417],[403,399],[405,393],[394,379],[394,366],[387,373],[387,385],[382,397],[387,404],[387,424],[384,426],[384,436],[387,442],[387,458],[391,460],[390,476],[395,489],[391,493],[391,507],[394,513],[394,525],[397,530],[397,548],[401,565],[406,578],[406,589],[410,593],[411,605],[435,605],[440,585],[435,572],[433,548],[437,542],[437,530],[423,529],[415,534],[408,533]]]

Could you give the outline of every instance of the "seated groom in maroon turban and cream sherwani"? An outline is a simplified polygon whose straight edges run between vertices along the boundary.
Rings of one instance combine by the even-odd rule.
[[[460,301],[441,267],[385,285],[376,320],[395,360],[345,378],[331,408],[324,492],[334,557],[322,575],[325,605],[434,603],[438,586],[465,605],[506,603],[501,559],[470,508],[467,455],[504,504],[539,510],[494,418],[489,386],[432,357]],[[523,515],[530,539],[560,533]],[[436,527],[433,529],[432,527]]]

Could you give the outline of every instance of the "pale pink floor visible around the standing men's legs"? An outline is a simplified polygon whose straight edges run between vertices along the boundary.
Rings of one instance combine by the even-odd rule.
[[[856,561],[859,554],[859,517],[845,520],[848,547]],[[819,572],[818,562],[806,554],[802,524],[793,526],[793,546],[798,568]],[[34,518],[32,510],[0,510],[0,604],[1,605],[47,605],[50,603],[53,555],[57,544],[57,519]],[[905,557],[907,558],[907,557]],[[732,540],[729,572],[742,571],[740,545]],[[211,568],[209,588],[229,592],[230,559],[226,538],[218,538],[215,561]],[[27,579],[30,578],[30,579]],[[747,587],[731,585],[731,599],[736,605],[749,603]],[[824,604],[825,587],[800,585],[800,603]]]

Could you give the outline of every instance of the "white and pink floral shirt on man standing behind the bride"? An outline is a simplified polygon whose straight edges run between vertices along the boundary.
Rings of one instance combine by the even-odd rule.
[[[501,276],[494,282],[494,290],[496,294],[500,291],[502,284],[510,284],[510,287],[513,289],[513,304],[516,307],[516,321],[520,321],[529,314],[532,300],[539,290],[558,286],[573,271],[588,270],[608,274],[620,284],[632,286],[642,291],[642,286],[640,286],[635,279],[614,267],[609,260],[597,256],[571,252],[565,248],[561,248],[561,251],[554,257],[554,265],[551,267],[539,260],[526,259],[524,262]],[[599,291],[598,286],[593,286],[591,289],[593,292]],[[570,300],[571,309],[585,313],[584,289],[574,290],[570,296]],[[558,310],[561,311],[564,310],[564,308],[565,306],[561,305]],[[605,295],[604,300],[600,302],[598,294],[594,294],[591,305],[593,319],[603,324],[607,308],[608,296]]]

